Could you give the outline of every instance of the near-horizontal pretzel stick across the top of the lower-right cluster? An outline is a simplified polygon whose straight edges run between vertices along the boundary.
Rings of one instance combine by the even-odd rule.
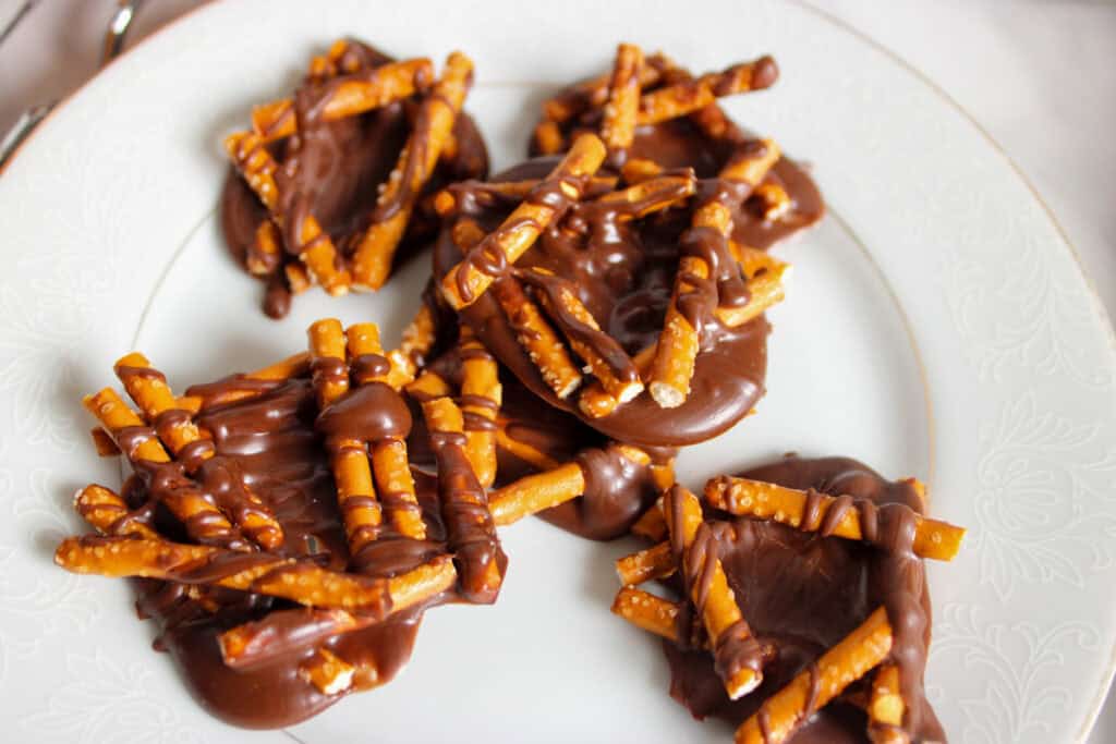
[[[730,514],[770,519],[804,532],[864,540],[860,513],[852,496],[834,497],[817,491],[722,475],[705,484],[705,500]],[[953,560],[964,535],[964,528],[915,514],[914,552],[921,558]]]

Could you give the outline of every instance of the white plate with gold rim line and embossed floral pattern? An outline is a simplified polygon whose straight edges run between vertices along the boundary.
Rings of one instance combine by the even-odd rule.
[[[639,11],[636,12],[636,8]],[[1116,646],[1116,363],[1050,215],[941,91],[785,3],[219,3],[140,46],[62,106],[0,178],[0,722],[4,741],[730,741],[665,692],[656,644],[612,617],[627,548],[504,531],[494,608],[433,611],[388,687],[290,732],[248,734],[187,698],[124,582],[56,569],[76,486],[116,482],[78,397],[144,349],[182,386],[300,348],[315,318],[391,335],[421,269],[374,297],[300,297],[268,321],[214,225],[219,135],[355,35],[478,64],[469,109],[502,166],[547,90],[619,39],[695,70],[771,51],[782,79],[729,104],[815,166],[830,205],[785,249],[759,414],[691,451],[691,484],[778,453],[849,454],[930,484],[970,528],[931,567],[927,682],[952,741],[1084,738]]]

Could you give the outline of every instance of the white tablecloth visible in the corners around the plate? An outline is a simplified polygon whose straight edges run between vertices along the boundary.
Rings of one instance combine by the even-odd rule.
[[[196,4],[148,0],[131,41]],[[0,0],[0,28],[20,6]],[[44,0],[0,46],[0,132],[22,109],[66,95],[93,74],[114,6]],[[816,0],[815,7],[904,58],[969,112],[1033,183],[1116,315],[1116,1]],[[1089,742],[1116,742],[1113,696]]]

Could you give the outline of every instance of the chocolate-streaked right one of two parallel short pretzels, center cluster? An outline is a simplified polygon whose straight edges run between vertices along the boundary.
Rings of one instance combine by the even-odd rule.
[[[536,290],[536,296],[558,326],[574,354],[585,360],[608,395],[627,403],[643,392],[635,361],[608,334],[577,297],[574,282],[533,267],[516,274]]]

